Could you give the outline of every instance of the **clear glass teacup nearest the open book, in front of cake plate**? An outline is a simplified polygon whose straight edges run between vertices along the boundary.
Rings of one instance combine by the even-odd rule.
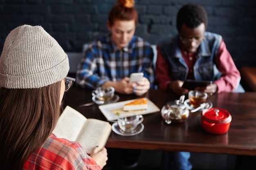
[[[143,119],[142,115],[123,113],[118,115],[117,123],[119,128],[124,132],[133,133]]]

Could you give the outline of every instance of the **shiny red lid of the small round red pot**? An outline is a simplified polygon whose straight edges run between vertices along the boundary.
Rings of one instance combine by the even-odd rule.
[[[226,123],[231,120],[231,115],[222,108],[208,108],[202,111],[202,117],[214,123]]]

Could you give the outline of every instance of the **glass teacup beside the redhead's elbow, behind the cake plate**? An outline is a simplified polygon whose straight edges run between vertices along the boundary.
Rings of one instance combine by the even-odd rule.
[[[107,88],[98,87],[92,91],[92,96],[98,99],[100,102],[109,102],[115,93],[115,88],[108,86]]]

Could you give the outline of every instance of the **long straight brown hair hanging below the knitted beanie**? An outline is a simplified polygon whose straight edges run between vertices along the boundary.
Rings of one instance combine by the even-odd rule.
[[[0,167],[21,170],[52,133],[60,115],[61,81],[42,88],[0,88]]]

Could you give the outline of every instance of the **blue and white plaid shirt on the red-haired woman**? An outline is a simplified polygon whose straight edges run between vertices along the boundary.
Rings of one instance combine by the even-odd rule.
[[[93,89],[107,81],[117,82],[131,73],[142,72],[150,88],[154,84],[153,49],[142,38],[133,36],[122,50],[111,41],[111,35],[89,44],[76,72],[76,84]]]

